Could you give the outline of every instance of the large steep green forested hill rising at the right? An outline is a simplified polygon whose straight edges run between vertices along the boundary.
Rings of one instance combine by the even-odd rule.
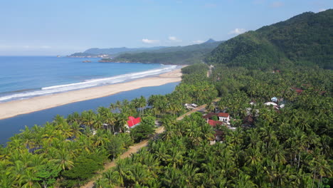
[[[306,12],[221,43],[205,59],[227,66],[333,68],[333,9]]]

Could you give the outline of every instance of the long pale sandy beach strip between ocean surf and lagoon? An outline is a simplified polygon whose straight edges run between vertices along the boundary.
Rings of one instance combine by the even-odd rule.
[[[95,88],[87,88],[82,90],[73,90],[66,93],[57,93],[53,95],[45,95],[26,100],[14,100],[7,103],[0,103],[0,120],[16,115],[36,112],[53,108],[59,105],[75,103],[82,100],[90,100],[93,98],[102,98],[108,95],[114,95],[127,90],[135,90],[138,88],[159,86],[166,83],[175,83],[181,81],[181,70],[176,69],[169,73],[163,73],[149,78],[141,78],[125,83],[117,83],[113,85],[104,85]],[[139,97],[139,96],[138,96]]]

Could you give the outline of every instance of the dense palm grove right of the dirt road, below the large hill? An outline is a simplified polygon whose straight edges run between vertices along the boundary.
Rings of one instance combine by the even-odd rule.
[[[332,184],[332,71],[218,66],[208,79],[198,68],[184,68],[191,74],[182,85],[214,84],[206,93],[221,91],[216,106],[231,114],[237,129],[213,128],[201,113],[179,122],[164,117],[166,132],[117,162],[96,187],[324,187],[329,179]],[[303,92],[297,95],[293,87]],[[272,96],[283,98],[285,108],[263,105]],[[245,126],[248,115],[255,121]],[[209,144],[213,130],[224,132],[223,142]]]

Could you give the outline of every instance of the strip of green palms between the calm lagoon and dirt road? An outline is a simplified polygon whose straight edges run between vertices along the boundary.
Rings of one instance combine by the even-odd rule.
[[[181,83],[168,95],[117,101],[110,108],[98,108],[97,113],[89,110],[66,118],[57,115],[43,126],[26,127],[11,137],[6,147],[0,147],[0,187],[85,184],[105,162],[125,152],[133,142],[151,136],[156,117],[177,116],[185,113],[184,103],[196,100],[203,104],[216,98],[213,85],[203,80],[204,76],[196,73],[193,78],[198,81]],[[147,104],[152,108],[146,108]],[[130,133],[125,126],[129,115],[142,117]]]

